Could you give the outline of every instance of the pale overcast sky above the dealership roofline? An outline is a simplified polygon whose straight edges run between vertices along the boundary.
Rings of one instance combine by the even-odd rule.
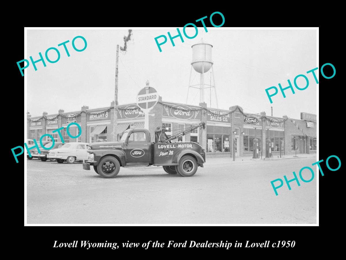
[[[180,28],[182,31],[182,28]],[[300,112],[316,114],[317,87],[311,73],[306,72],[318,67],[316,58],[316,30],[234,30],[201,27],[198,35],[188,39],[183,35],[174,39],[172,46],[167,32],[177,34],[175,28],[167,29],[133,29],[132,39],[127,43],[127,51],[119,51],[118,104],[135,103],[139,90],[145,87],[147,80],[154,87],[163,101],[186,104],[192,61],[191,46],[201,40],[213,45],[212,61],[215,76],[219,109],[228,110],[230,106],[239,105],[244,112],[260,113],[265,111],[273,116],[300,118]],[[188,35],[195,33],[186,30]],[[83,36],[87,47],[77,52],[72,47],[75,36]],[[127,29],[43,29],[27,30],[27,57],[39,59],[39,52],[44,56],[49,47],[60,51],[60,60],[42,62],[25,69],[27,77],[27,110],[34,116],[41,116],[45,111],[57,114],[59,109],[65,112],[80,111],[82,106],[90,109],[107,107],[114,100],[116,46],[124,46]],[[166,35],[167,42],[158,50],[154,38]],[[63,46],[66,44],[70,57]],[[161,41],[161,39],[159,39]],[[84,46],[79,38],[75,41],[78,49]],[[51,60],[57,58],[54,50],[48,52]],[[205,82],[210,82],[210,71],[206,72]],[[303,74],[309,79],[305,90],[298,90],[293,85],[295,76]],[[318,77],[318,73],[317,77]],[[197,84],[199,75],[192,72],[192,82]],[[283,98],[278,84],[289,86],[290,79],[295,94],[285,90]],[[306,81],[300,77],[299,87]],[[279,93],[272,97],[271,104],[265,89],[276,86]],[[205,90],[208,107],[216,108],[215,92]],[[197,89],[190,89],[188,104],[199,104]]]

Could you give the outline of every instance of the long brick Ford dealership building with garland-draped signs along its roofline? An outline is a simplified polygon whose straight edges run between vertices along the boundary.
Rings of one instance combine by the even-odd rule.
[[[43,134],[50,134],[55,141],[61,141],[54,130],[63,127],[62,136],[66,142],[96,142],[113,140],[114,103],[99,109],[83,106],[80,111],[31,118],[28,115],[27,136],[38,140]],[[311,117],[311,116],[310,116]],[[144,114],[137,104],[119,105],[117,111],[117,140],[129,128],[144,128]],[[310,119],[308,119],[310,120]],[[253,156],[253,140],[258,139],[258,150],[265,157],[266,140],[270,140],[271,153],[279,155],[298,153],[316,153],[316,122],[292,120],[287,116],[277,118],[258,114],[244,113],[242,107],[231,106],[228,110],[208,108],[205,103],[197,105],[179,104],[162,101],[149,113],[149,131],[151,141],[156,127],[164,125],[171,136],[201,122],[206,128],[197,128],[173,141],[193,141],[206,151],[207,157]],[[315,120],[316,121],[316,120]],[[66,127],[71,122],[81,126],[82,133],[77,139],[67,135]],[[298,126],[297,126],[298,125]],[[70,133],[78,135],[79,129],[71,127]],[[45,140],[50,140],[45,137]],[[296,148],[297,146],[297,148]]]

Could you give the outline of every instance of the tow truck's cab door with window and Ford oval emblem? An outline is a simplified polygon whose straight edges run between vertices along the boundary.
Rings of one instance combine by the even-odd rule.
[[[146,132],[131,132],[126,147],[127,163],[147,163],[149,162],[149,140]]]

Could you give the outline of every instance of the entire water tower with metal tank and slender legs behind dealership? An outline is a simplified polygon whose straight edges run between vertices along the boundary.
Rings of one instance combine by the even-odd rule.
[[[190,88],[199,89],[199,102],[200,103],[204,102],[204,89],[209,88],[210,89],[210,95],[211,95],[211,88],[214,88],[216,106],[217,106],[217,108],[219,108],[219,105],[217,102],[217,95],[216,95],[213,62],[211,60],[211,48],[213,46],[209,43],[204,42],[203,39],[201,39],[200,42],[192,45],[191,47],[192,47],[192,62],[191,62],[188,95],[186,96],[186,104],[188,103]],[[199,84],[197,84],[197,85],[191,85],[192,68],[194,69],[195,72],[199,73],[199,79],[200,80],[199,80]],[[204,83],[204,74],[206,72],[208,72],[210,70],[210,68],[211,68],[211,73],[212,73],[214,85],[211,85],[211,75],[210,75],[209,84],[208,84],[208,82]],[[211,101],[210,101],[210,103],[211,103]],[[210,107],[211,107],[211,104],[210,104]]]

